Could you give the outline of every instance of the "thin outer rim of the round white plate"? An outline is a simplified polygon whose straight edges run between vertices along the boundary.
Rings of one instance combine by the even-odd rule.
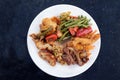
[[[30,24],[30,26],[29,26],[29,28],[28,28],[28,32],[27,32],[27,49],[28,49],[28,53],[29,53],[30,58],[32,59],[33,63],[34,63],[41,71],[43,71],[44,73],[47,73],[47,74],[50,75],[50,76],[54,76],[54,77],[70,78],[70,77],[78,76],[78,75],[86,72],[88,69],[90,69],[90,68],[94,65],[96,59],[98,58],[98,56],[99,56],[99,54],[100,54],[100,50],[101,50],[101,33],[100,33],[100,29],[99,29],[96,21],[93,19],[93,17],[92,17],[87,11],[83,10],[84,12],[86,12],[86,13],[93,19],[93,21],[95,22],[95,25],[97,26],[97,28],[98,28],[98,30],[99,30],[99,33],[100,33],[100,43],[99,43],[99,45],[100,45],[100,47],[99,47],[98,54],[97,54],[97,57],[95,57],[94,62],[90,65],[90,67],[88,67],[87,69],[85,69],[85,70],[82,71],[81,73],[76,74],[76,75],[73,75],[73,76],[56,76],[56,75],[52,75],[52,74],[50,74],[50,73],[42,70],[42,69],[36,64],[36,62],[34,61],[34,59],[32,58],[32,56],[31,56],[31,54],[30,54],[29,46],[28,46],[29,31],[30,31],[31,25],[33,24],[33,21],[39,16],[40,13],[42,13],[43,11],[46,11],[48,8],[56,7],[56,6],[61,6],[61,5],[62,5],[62,6],[72,6],[72,7],[76,7],[76,8],[79,8],[79,9],[83,10],[82,8],[80,8],[80,7],[78,7],[78,6],[71,5],[71,4],[57,4],[57,5],[52,5],[52,6],[49,6],[49,7],[45,8],[45,9],[41,10],[41,11],[35,16],[35,18],[33,18],[32,22],[31,22],[31,24]]]

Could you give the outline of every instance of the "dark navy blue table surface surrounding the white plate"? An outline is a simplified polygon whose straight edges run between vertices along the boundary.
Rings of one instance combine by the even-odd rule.
[[[120,80],[120,0],[0,0],[0,80],[64,80],[36,67],[26,43],[34,17],[56,4],[71,4],[87,11],[102,36],[100,54],[92,67],[67,79]]]

